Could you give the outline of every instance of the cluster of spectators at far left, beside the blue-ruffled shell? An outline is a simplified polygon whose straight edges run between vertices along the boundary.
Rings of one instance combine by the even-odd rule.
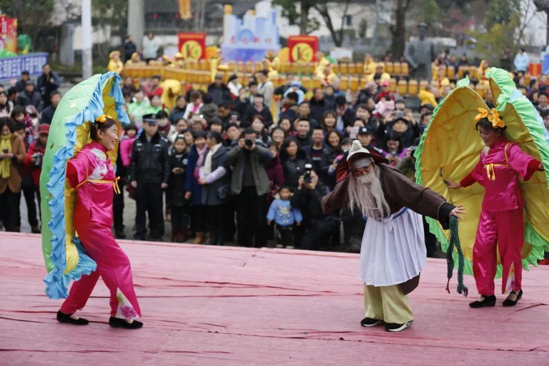
[[[11,86],[0,85],[0,218],[6,231],[20,231],[23,193],[31,231],[40,233],[40,172],[49,125],[61,100],[59,83],[45,64],[36,83],[23,71]]]

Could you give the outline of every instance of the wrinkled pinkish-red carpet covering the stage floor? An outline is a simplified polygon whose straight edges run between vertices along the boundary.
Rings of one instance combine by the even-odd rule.
[[[473,279],[468,299],[449,295],[446,262],[428,260],[411,295],[416,323],[392,334],[360,326],[357,255],[120,242],[141,330],[109,328],[102,281],[79,313],[91,324],[58,324],[40,237],[0,233],[0,365],[549,364],[548,266],[524,273],[518,306],[498,295],[495,308],[469,309]]]

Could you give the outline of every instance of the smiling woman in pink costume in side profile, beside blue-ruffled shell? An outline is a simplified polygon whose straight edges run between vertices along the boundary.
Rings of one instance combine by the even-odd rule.
[[[113,187],[116,193],[120,191],[107,151],[114,150],[118,140],[116,121],[108,115],[98,117],[91,125],[90,137],[93,141],[67,163],[66,176],[77,193],[74,227],[86,254],[96,261],[97,270],[72,284],[57,320],[88,324],[74,313],[86,305],[100,275],[110,291],[109,325],[141,328],[143,323],[133,320],[141,316],[141,311],[133,290],[130,260],[111,232]]]

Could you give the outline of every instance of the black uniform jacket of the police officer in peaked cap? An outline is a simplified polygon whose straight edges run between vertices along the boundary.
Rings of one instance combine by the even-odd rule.
[[[158,132],[147,142],[143,132],[133,142],[131,179],[137,182],[167,183],[170,178],[170,142]]]

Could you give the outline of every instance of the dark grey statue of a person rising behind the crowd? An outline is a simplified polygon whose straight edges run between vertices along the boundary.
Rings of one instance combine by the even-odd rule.
[[[427,35],[427,24],[418,25],[418,38],[406,42],[404,57],[410,65],[410,74],[418,80],[431,81],[431,63],[435,59],[435,47]]]

